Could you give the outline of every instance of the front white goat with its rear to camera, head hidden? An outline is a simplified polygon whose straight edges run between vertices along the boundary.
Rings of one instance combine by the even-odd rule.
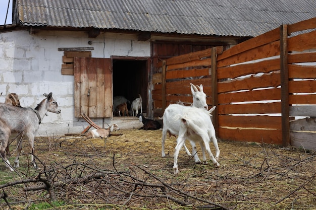
[[[179,136],[177,138],[177,146],[175,147],[174,153],[174,174],[178,173],[178,155],[179,150],[184,145],[186,139],[189,139],[190,142],[199,143],[203,155],[203,164],[207,164],[205,150],[208,153],[210,159],[213,161],[215,167],[220,167],[218,163],[219,159],[219,148],[215,135],[215,129],[210,119],[212,111],[215,109],[213,107],[209,111],[204,109],[199,109],[195,107],[185,107],[183,108],[183,114],[175,116],[180,123]],[[212,152],[209,148],[209,140],[212,139],[213,144],[216,148],[217,155],[214,158]]]

